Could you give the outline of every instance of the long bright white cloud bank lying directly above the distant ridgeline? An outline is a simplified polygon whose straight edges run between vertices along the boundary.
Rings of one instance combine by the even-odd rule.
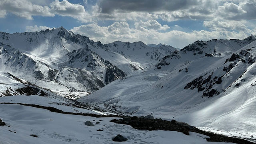
[[[145,23],[145,22],[144,22]],[[116,40],[121,41],[142,41],[146,44],[158,44],[165,43],[171,46],[183,48],[184,46],[196,41],[196,40],[211,40],[215,38],[231,39],[239,38],[243,39],[250,34],[255,34],[255,30],[246,31],[228,31],[214,29],[212,31],[199,30],[192,32],[181,31],[182,27],[176,25],[175,27],[180,30],[169,30],[162,32],[161,30],[146,29],[134,26],[131,28],[126,22],[114,22],[109,26],[99,26],[98,24],[88,24],[71,29],[76,34],[82,34],[88,36],[92,40],[100,40],[103,43],[110,43]]]

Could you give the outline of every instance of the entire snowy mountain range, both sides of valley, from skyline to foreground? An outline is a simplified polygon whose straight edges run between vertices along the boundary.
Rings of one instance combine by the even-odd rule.
[[[143,42],[102,44],[63,27],[0,32],[0,97],[30,95],[17,102],[34,104],[38,95],[36,102],[48,106],[50,99],[39,97],[45,96],[56,105],[90,105],[89,113],[152,114],[255,134],[255,48],[254,35],[198,40],[178,50]]]

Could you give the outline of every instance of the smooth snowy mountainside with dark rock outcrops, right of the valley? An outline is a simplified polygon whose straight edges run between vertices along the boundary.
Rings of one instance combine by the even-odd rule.
[[[255,40],[196,41],[78,101],[255,134]]]

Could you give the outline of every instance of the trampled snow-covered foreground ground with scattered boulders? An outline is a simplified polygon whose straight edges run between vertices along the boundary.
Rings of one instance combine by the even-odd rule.
[[[136,130],[128,125],[109,122],[113,118],[95,118],[59,114],[45,109],[18,104],[0,104],[2,119],[8,126],[1,126],[1,144],[114,144],[114,136],[128,138],[122,144],[215,144],[207,142],[202,134],[181,132]],[[87,120],[100,121],[95,126],[86,126]],[[102,129],[102,132],[97,131]],[[10,131],[12,132],[10,132]],[[16,133],[14,133],[16,132]],[[30,136],[36,134],[38,138]],[[224,143],[224,142],[222,142]]]

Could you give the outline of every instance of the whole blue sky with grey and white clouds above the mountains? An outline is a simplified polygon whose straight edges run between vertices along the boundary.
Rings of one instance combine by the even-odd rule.
[[[64,26],[102,43],[183,48],[196,40],[256,34],[256,0],[0,0],[0,31]]]

